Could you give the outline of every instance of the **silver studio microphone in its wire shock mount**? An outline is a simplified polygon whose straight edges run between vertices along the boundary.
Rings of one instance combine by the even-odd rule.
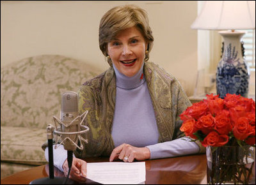
[[[60,119],[53,116],[54,123],[60,124],[56,125],[54,133],[56,133],[56,142],[57,137],[61,137],[61,144],[64,145],[65,150],[75,151],[78,147],[83,150],[83,144],[81,140],[87,142],[81,134],[86,133],[89,128],[88,126],[82,125],[84,118],[88,114],[86,110],[82,115],[78,113],[78,95],[75,92],[67,91],[61,96],[61,114]],[[56,145],[55,145],[56,147]]]

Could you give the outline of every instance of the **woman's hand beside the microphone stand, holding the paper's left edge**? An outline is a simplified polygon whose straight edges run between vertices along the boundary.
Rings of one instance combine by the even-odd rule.
[[[67,159],[63,163],[62,167],[63,167],[63,170],[64,170],[63,171],[64,175],[65,175],[65,177],[67,177],[67,175],[68,175],[68,161],[67,161]],[[69,178],[73,179],[74,181],[77,181],[77,182],[84,182],[86,180],[84,178],[84,177],[86,177],[86,172],[87,172],[86,161],[84,161],[82,159],[79,159],[79,158],[73,158]]]

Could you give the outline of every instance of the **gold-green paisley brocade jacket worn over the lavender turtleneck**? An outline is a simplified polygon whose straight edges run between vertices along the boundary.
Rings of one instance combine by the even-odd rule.
[[[184,137],[180,131],[179,115],[191,106],[186,93],[175,77],[154,63],[145,62],[143,74],[154,107],[159,142]],[[111,129],[115,112],[116,77],[113,68],[85,82],[78,91],[79,114],[88,110],[84,124],[90,131],[83,135],[88,139],[83,151],[77,149],[77,158],[109,156],[114,149]],[[200,142],[200,152],[205,152]]]

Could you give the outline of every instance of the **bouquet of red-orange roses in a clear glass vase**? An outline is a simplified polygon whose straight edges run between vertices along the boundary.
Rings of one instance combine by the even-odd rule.
[[[248,184],[255,177],[255,101],[236,94],[206,96],[180,114],[180,131],[206,147],[209,183]]]

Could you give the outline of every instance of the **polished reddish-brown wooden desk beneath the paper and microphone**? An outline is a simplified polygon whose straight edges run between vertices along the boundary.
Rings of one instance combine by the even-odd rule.
[[[90,158],[86,162],[106,162],[109,158]],[[205,154],[146,160],[145,184],[207,184]],[[49,166],[36,166],[1,179],[1,184],[29,184],[29,182],[48,177]],[[54,168],[55,177],[63,173]]]

